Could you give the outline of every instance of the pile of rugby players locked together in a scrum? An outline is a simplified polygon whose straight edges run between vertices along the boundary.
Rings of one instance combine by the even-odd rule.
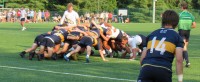
[[[19,55],[24,58],[25,54],[29,53],[30,60],[36,55],[39,61],[63,57],[69,62],[71,56],[86,51],[86,63],[89,63],[90,55],[94,54],[94,47],[103,61],[108,61],[105,59],[106,54],[113,57],[113,52],[119,51],[123,51],[123,58],[129,53],[130,59],[134,60],[136,53],[141,52],[145,44],[146,37],[143,35],[129,36],[109,23],[96,24],[92,21],[81,25],[55,26],[52,32],[36,36],[32,47]],[[38,47],[39,50],[36,50]]]

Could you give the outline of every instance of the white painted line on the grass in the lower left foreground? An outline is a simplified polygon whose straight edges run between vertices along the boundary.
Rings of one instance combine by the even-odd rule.
[[[0,68],[9,68],[9,69],[18,69],[18,70],[27,70],[27,71],[31,70],[31,71],[38,71],[38,72],[45,72],[45,73],[54,73],[54,74],[64,74],[64,75],[74,75],[74,76],[93,77],[93,78],[101,78],[101,79],[109,79],[109,80],[119,80],[119,81],[136,82],[136,80],[130,80],[130,79],[120,79],[120,78],[112,78],[112,77],[101,77],[101,76],[86,75],[86,74],[76,74],[76,73],[63,73],[63,72],[48,71],[48,70],[39,70],[39,69],[31,69],[31,68],[23,68],[23,67],[0,66]]]

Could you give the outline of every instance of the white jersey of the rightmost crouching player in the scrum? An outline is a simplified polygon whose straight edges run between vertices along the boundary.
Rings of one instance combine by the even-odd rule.
[[[128,38],[128,45],[133,49],[137,48],[138,45],[142,43],[142,38],[139,35]]]

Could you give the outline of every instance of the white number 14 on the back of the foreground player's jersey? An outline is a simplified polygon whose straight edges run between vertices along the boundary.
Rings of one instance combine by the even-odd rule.
[[[153,40],[152,40],[150,53],[153,53],[153,49],[154,49],[154,46],[155,46],[156,38],[157,38],[157,37],[154,37]],[[165,52],[165,44],[164,44],[165,39],[166,39],[166,38],[162,38],[162,39],[159,41],[159,43],[158,43],[158,45],[156,46],[156,48],[155,48],[155,50],[160,51],[160,54],[161,54],[161,55],[163,55],[164,52]]]

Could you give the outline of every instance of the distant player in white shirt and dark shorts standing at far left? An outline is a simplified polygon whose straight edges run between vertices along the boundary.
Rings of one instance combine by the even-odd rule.
[[[21,15],[20,15],[20,24],[22,26],[22,31],[26,30],[26,27],[24,27],[24,23],[25,23],[25,20],[26,20],[26,10],[24,9],[24,7],[22,7],[22,9],[20,10],[21,12]]]

